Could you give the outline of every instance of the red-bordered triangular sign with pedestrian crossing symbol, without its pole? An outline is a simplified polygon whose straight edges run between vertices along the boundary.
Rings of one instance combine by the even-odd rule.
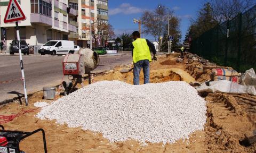
[[[17,0],[10,0],[4,17],[4,23],[26,20]]]

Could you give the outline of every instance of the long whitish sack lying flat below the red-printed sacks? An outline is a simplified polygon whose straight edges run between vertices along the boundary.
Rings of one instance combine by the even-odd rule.
[[[210,82],[210,86],[203,83],[201,87],[197,88],[196,90],[198,92],[256,95],[256,90],[253,86],[243,86],[227,80],[212,81]]]

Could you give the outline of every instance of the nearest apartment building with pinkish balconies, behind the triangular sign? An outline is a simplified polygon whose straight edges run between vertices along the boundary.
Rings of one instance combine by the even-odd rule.
[[[77,27],[69,22],[70,18],[76,18],[77,12],[68,7],[68,0],[20,0],[18,2],[27,17],[25,21],[19,22],[20,39],[34,46],[35,52],[39,46],[49,40],[68,40],[70,32],[77,32]],[[17,39],[15,23],[3,22],[8,3],[9,0],[0,0],[1,41],[3,42],[4,39],[2,29],[5,28],[7,52],[11,41]]]

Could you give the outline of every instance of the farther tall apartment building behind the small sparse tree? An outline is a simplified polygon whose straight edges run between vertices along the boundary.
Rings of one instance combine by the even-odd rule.
[[[108,22],[108,0],[69,0],[69,6],[77,12],[77,16],[69,17],[69,24],[76,26],[77,31],[70,32],[68,38],[79,46],[89,47],[87,42],[90,40],[90,22]],[[98,46],[103,44],[102,39],[93,43],[98,43]]]

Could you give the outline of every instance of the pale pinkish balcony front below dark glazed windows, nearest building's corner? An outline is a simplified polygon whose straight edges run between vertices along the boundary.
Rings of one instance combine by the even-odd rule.
[[[31,13],[30,14],[30,22],[38,23],[44,26],[52,26],[52,18],[50,16],[46,16],[39,13]]]

